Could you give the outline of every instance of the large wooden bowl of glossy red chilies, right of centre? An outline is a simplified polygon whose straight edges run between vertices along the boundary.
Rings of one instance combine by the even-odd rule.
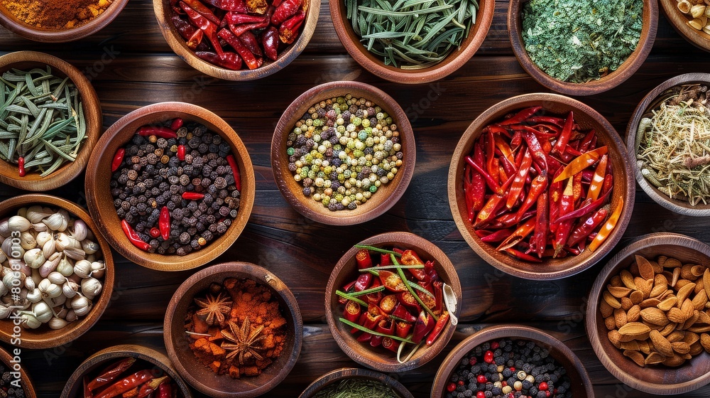
[[[621,239],[635,194],[623,141],[576,99],[536,93],[493,105],[461,137],[449,205],[489,264],[525,279],[577,274]]]

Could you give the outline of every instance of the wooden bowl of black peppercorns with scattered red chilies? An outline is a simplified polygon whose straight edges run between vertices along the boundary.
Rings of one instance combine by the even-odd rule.
[[[89,212],[116,251],[143,267],[200,267],[249,220],[246,146],[216,114],[184,102],[136,109],[102,135],[87,167]]]

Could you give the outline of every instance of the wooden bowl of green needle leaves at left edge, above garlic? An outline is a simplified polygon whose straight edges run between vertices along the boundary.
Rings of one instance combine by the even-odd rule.
[[[0,57],[0,182],[58,188],[86,167],[102,113],[89,80],[59,58],[34,51]]]

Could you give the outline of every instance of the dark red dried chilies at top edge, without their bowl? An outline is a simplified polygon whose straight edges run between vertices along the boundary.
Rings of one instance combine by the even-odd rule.
[[[261,67],[298,37],[303,0],[170,0],[171,20],[195,55],[222,68]],[[226,51],[229,45],[236,52]]]

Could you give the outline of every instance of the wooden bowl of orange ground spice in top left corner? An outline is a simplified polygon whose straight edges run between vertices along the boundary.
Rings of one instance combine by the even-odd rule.
[[[45,43],[76,41],[97,33],[129,0],[0,0],[0,25]]]

